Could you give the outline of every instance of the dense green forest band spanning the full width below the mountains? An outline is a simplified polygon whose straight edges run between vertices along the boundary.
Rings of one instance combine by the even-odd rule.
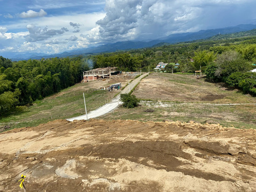
[[[20,106],[80,82],[82,71],[102,67],[152,71],[161,61],[170,63],[165,72],[201,69],[214,82],[256,95],[256,73],[249,72],[256,68],[256,37],[208,39],[72,58],[16,62],[0,56],[0,114],[22,109]],[[175,63],[179,67],[175,68]]]

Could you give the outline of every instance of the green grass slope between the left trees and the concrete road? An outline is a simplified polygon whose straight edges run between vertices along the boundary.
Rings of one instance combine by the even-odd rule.
[[[25,112],[14,113],[0,119],[0,126],[16,127],[37,126],[55,119],[67,119],[85,114],[83,92],[87,111],[93,111],[110,101],[116,92],[95,90],[90,87],[94,82],[79,83],[42,100],[37,100]]]

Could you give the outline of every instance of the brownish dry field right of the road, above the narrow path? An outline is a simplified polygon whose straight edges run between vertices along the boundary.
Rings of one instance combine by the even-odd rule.
[[[238,95],[238,90],[223,86],[223,83],[210,83],[194,75],[153,73],[140,82],[133,94],[142,99],[165,101],[256,103],[256,98]]]

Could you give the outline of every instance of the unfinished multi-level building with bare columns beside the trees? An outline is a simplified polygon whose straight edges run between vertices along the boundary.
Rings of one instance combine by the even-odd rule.
[[[97,68],[83,72],[83,81],[93,81],[100,78],[111,78],[113,75],[121,74],[122,71],[117,71],[117,68]]]

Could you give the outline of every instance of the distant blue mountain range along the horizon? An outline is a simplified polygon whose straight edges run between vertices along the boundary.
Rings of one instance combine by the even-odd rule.
[[[218,34],[222,34],[222,35],[231,34],[231,33],[237,33],[242,31],[249,31],[252,29],[256,29],[256,25],[252,25],[252,24],[238,25],[235,27],[201,30],[193,33],[178,33],[178,34],[169,35],[161,39],[155,39],[155,40],[145,41],[145,42],[144,41],[122,41],[122,42],[116,42],[114,44],[106,44],[98,47],[78,49],[70,52],[63,52],[60,54],[53,54],[53,55],[47,55],[44,53],[26,53],[26,54],[10,53],[10,55],[5,55],[4,57],[11,58],[12,60],[27,60],[27,59],[41,59],[41,58],[51,58],[51,57],[67,57],[67,56],[80,55],[80,54],[115,52],[118,50],[130,50],[130,49],[153,47],[158,44],[161,45],[162,43],[175,44],[177,42],[207,39],[209,37],[212,37]]]

